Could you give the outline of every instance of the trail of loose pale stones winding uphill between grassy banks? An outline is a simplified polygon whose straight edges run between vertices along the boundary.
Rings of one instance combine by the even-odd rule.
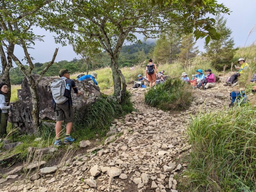
[[[223,82],[226,77],[220,79]],[[28,180],[17,180],[26,167],[16,167],[0,179],[0,192],[177,192],[176,175],[187,169],[191,146],[186,130],[191,116],[224,110],[230,103],[229,93],[237,89],[222,82],[209,90],[194,90],[191,107],[182,112],[149,107],[144,103],[145,89],[129,88],[136,111],[113,122],[109,134],[114,135],[104,145],[92,148],[89,141],[82,141],[80,146],[86,147],[86,152],[68,158],[64,155],[50,167],[38,162],[30,166],[40,168]]]

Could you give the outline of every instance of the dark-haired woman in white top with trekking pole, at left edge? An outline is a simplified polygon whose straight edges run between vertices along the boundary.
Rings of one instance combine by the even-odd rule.
[[[0,83],[0,134],[3,136],[5,123],[6,123],[6,113],[8,113],[8,109],[11,108],[9,106],[9,102],[6,103],[5,101],[5,95],[8,93],[8,85],[7,83]]]

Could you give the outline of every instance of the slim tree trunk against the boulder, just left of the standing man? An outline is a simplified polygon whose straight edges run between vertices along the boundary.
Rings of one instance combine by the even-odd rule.
[[[40,101],[39,101],[39,96],[37,91],[37,84],[32,76],[27,77],[27,80],[28,80],[28,85],[31,92],[32,105],[33,105],[33,110],[32,110],[33,129],[34,129],[34,133],[37,134],[38,129],[41,125],[40,118],[39,118]]]

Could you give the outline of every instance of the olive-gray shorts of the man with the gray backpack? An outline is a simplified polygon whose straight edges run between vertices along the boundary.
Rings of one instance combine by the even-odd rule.
[[[70,117],[69,117],[69,110],[70,110]],[[66,123],[70,123],[74,121],[74,110],[73,106],[70,106],[68,109],[68,104],[57,104],[56,103],[56,120],[63,121]]]

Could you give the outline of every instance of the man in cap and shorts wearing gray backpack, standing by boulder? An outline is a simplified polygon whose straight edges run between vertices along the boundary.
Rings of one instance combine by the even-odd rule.
[[[69,78],[69,73],[67,69],[61,69],[59,72],[60,79],[57,79],[51,83],[51,93],[54,101],[54,112],[56,114],[56,140],[54,142],[55,146],[61,146],[62,142],[60,140],[60,132],[62,122],[66,122],[66,136],[64,138],[64,144],[70,144],[75,139],[71,138],[70,133],[74,121],[74,111],[72,106],[71,98],[71,88],[76,93],[76,96],[82,94],[78,91],[76,84],[73,80]]]

